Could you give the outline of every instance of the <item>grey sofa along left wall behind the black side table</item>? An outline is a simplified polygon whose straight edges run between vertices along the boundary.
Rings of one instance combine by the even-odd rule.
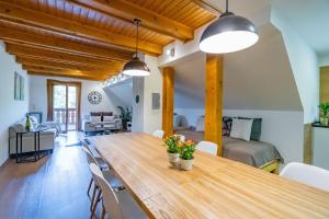
[[[9,154],[14,157],[16,153],[16,132],[25,130],[26,118],[23,118],[9,127]],[[46,127],[47,128],[47,127]],[[53,150],[55,145],[55,137],[57,130],[55,128],[47,128],[39,134],[39,150]],[[34,151],[34,134],[23,135],[22,152]]]

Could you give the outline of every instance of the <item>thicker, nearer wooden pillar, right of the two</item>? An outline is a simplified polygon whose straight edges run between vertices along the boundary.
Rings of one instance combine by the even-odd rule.
[[[223,56],[207,55],[205,77],[205,140],[217,143],[222,155]]]

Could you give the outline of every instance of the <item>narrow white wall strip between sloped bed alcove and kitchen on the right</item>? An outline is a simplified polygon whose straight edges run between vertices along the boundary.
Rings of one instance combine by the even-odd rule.
[[[313,123],[319,104],[319,68],[317,55],[295,32],[284,15],[272,8],[271,22],[281,31],[304,108],[304,123]]]

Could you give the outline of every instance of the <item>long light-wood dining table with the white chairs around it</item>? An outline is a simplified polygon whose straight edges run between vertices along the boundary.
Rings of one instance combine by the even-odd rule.
[[[215,155],[209,145],[192,145],[193,166],[182,169],[162,135],[84,139],[91,218],[329,218],[327,171],[291,163],[276,175]]]

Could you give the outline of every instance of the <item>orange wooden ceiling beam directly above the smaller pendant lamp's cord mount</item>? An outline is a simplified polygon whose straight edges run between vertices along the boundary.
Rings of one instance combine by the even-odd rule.
[[[125,0],[69,1],[125,22],[132,23],[134,19],[139,19],[141,20],[141,27],[183,42],[191,41],[194,37],[191,27]]]

